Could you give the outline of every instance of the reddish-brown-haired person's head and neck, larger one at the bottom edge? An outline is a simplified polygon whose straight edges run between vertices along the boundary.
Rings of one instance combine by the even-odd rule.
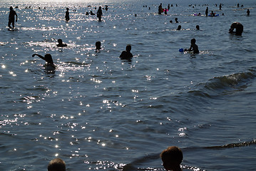
[[[183,152],[179,147],[171,146],[160,154],[165,170],[181,171],[180,163],[183,161]]]

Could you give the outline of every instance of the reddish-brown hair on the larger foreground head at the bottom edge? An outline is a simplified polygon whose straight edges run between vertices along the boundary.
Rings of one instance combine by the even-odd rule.
[[[179,147],[171,146],[161,152],[160,157],[163,161],[175,161],[177,164],[183,161],[183,152]]]

